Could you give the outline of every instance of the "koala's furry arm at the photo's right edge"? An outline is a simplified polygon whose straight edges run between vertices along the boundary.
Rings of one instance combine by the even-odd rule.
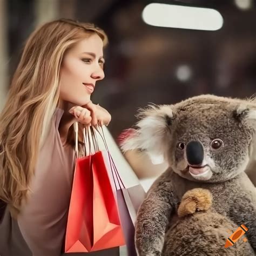
[[[244,224],[248,228],[246,236],[256,251],[256,190],[238,191],[233,198],[229,215],[235,224]]]

